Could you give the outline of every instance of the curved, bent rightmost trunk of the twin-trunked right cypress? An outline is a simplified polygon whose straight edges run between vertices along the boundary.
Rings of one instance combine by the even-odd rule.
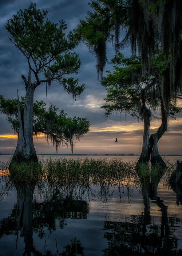
[[[167,122],[168,122],[168,113],[169,113],[169,106],[167,106],[166,110],[163,105],[163,101],[161,98],[161,115],[162,115],[162,124],[158,128],[156,133],[151,134],[149,140],[149,156],[151,154],[151,164],[161,165],[166,167],[166,163],[163,161],[161,155],[159,154],[158,150],[158,141],[161,139],[162,135],[167,131]]]

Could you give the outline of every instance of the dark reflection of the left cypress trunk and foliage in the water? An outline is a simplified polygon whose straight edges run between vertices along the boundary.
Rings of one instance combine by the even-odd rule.
[[[62,229],[66,225],[67,218],[86,219],[89,212],[88,203],[83,200],[73,199],[71,195],[63,198],[59,191],[51,195],[51,199],[44,203],[33,202],[33,192],[35,183],[24,182],[14,183],[17,191],[17,204],[12,209],[11,216],[0,221],[0,238],[4,235],[16,236],[16,248],[18,238],[24,237],[23,255],[42,255],[33,245],[33,233],[38,233],[38,237],[44,236],[44,227],[48,227],[50,234],[56,230],[56,220],[59,220],[59,227]],[[72,239],[71,244],[64,246],[65,250],[58,254],[58,245],[55,239],[56,255],[75,255],[75,252],[83,254],[83,247],[80,241]],[[46,251],[46,244],[45,244]],[[45,255],[52,255],[46,251]]]

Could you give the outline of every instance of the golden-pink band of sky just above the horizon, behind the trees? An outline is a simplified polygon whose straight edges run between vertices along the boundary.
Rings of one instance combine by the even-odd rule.
[[[152,120],[150,123],[150,134],[155,133],[161,125],[161,119]],[[92,125],[90,131],[83,136],[74,146],[75,154],[141,154],[142,136],[144,123],[135,120],[108,120],[99,125]],[[182,116],[178,120],[169,120],[168,131],[159,141],[161,154],[181,154]],[[115,143],[115,138],[119,142]],[[17,135],[1,134],[1,150],[3,153],[13,153],[16,148]],[[33,137],[36,152],[55,153],[52,143],[45,140],[45,135],[40,133]],[[3,144],[4,142],[4,144]],[[47,145],[48,143],[48,145]],[[170,144],[170,147],[166,147]],[[88,146],[89,145],[89,146]],[[60,147],[59,153],[70,154],[69,147]]]

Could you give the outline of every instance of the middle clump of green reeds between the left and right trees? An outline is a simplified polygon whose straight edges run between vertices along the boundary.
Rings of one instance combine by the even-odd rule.
[[[67,180],[85,178],[92,181],[120,180],[133,176],[135,164],[120,159],[47,159],[42,163],[44,176],[52,181],[65,177]]]

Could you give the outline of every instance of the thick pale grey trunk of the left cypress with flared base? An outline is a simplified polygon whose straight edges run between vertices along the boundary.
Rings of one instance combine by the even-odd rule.
[[[19,134],[15,153],[12,161],[37,161],[36,151],[33,145],[33,93],[34,83],[31,82],[29,69],[26,85],[24,110],[18,106]]]

